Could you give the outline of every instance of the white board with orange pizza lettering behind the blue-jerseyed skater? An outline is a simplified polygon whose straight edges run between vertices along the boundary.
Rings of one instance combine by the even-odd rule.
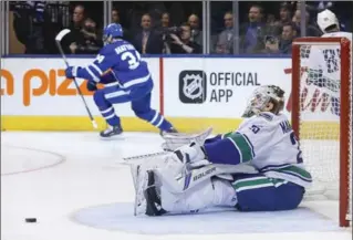
[[[69,59],[70,64],[85,66],[93,59]],[[159,61],[146,59],[155,88],[152,105],[159,108]],[[2,59],[1,60],[1,114],[2,115],[86,115],[82,100],[71,80],[65,77],[61,59]],[[86,81],[76,79],[93,115],[100,112]],[[120,116],[134,116],[129,103],[116,106]]]

